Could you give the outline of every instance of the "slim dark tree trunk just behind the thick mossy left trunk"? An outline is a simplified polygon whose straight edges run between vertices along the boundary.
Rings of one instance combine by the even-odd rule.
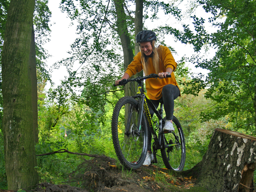
[[[37,111],[37,60],[35,51],[35,31],[32,26],[30,54],[29,54],[29,68],[31,79],[31,92],[32,92],[32,112],[33,112],[33,133],[34,143],[38,143],[38,111]]]

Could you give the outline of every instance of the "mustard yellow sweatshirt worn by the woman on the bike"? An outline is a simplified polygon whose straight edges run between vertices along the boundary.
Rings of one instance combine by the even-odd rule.
[[[177,67],[177,63],[175,62],[171,51],[166,46],[159,46],[157,48],[157,52],[159,55],[159,69],[160,72],[166,72],[166,68],[172,68],[172,71],[175,71]],[[142,61],[141,61],[141,52],[138,52],[138,54],[133,58],[133,61],[131,64],[128,65],[125,73],[128,73],[129,76],[135,75],[137,72],[142,71]],[[152,57],[148,58],[148,71],[149,74],[156,73]],[[158,100],[162,97],[162,89],[165,85],[172,84],[175,86],[178,86],[174,73],[171,73],[171,78],[162,78],[162,79],[155,79],[155,78],[149,78],[146,79],[146,90],[147,95],[152,100]],[[179,87],[179,86],[178,86]]]

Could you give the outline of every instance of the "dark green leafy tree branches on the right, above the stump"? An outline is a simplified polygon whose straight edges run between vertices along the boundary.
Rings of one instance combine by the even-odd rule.
[[[207,121],[229,116],[235,130],[246,129],[256,134],[256,2],[255,1],[197,1],[206,12],[213,14],[209,22],[218,27],[216,33],[203,35],[205,29],[198,28],[198,34],[203,35],[202,42],[218,48],[212,59],[195,56],[191,58],[197,67],[210,70],[204,81],[195,77],[189,83],[193,90],[185,88],[186,93],[197,94],[201,88],[208,87],[206,98],[212,99],[210,110],[201,112],[201,117]],[[203,21],[193,16],[195,21]],[[195,26],[198,26],[197,24]],[[202,47],[196,39],[189,37],[195,50]],[[185,84],[185,83],[184,83]]]

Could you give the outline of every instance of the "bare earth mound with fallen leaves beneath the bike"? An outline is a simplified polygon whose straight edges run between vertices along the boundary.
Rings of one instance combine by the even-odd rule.
[[[40,183],[30,192],[206,192],[195,182],[196,178],[155,165],[126,170],[115,159],[94,158],[69,175],[70,185]]]

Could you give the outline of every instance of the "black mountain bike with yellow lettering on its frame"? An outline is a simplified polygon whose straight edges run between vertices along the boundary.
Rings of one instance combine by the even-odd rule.
[[[171,77],[171,75],[166,75]],[[119,85],[128,82],[137,82],[137,92],[132,97],[122,97],[116,103],[112,116],[112,140],[116,155],[120,163],[126,168],[137,169],[145,161],[148,147],[148,128],[146,118],[153,136],[153,155],[157,163],[157,150],[161,151],[163,162],[168,169],[182,171],[185,164],[185,139],[179,120],[174,116],[172,120],[175,131],[165,131],[163,115],[163,103],[157,110],[143,89],[143,81],[148,78],[159,78],[157,74],[144,77],[124,79]],[[158,120],[153,121],[149,112],[149,106],[155,112]],[[157,134],[158,132],[158,134]],[[158,135],[158,136],[157,136]]]

